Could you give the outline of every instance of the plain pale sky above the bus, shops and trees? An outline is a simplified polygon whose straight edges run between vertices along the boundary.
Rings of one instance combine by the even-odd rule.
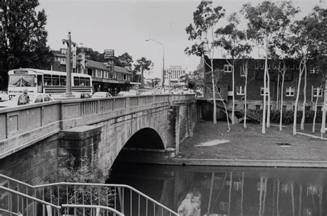
[[[326,0],[323,0],[326,1]],[[192,44],[185,28],[192,23],[193,12],[199,0],[39,0],[39,10],[44,8],[48,16],[48,45],[52,50],[65,47],[61,42],[68,32],[77,45],[103,52],[114,49],[115,56],[128,52],[133,60],[142,56],[154,63],[151,76],[160,77],[162,69],[162,45],[164,44],[165,67],[181,65],[193,71],[199,65],[199,57],[188,56],[184,50]],[[223,6],[226,14],[236,12],[248,2],[243,0],[217,0],[215,6]],[[253,4],[259,1],[250,1]],[[293,1],[307,14],[319,0]],[[224,21],[221,22],[223,25]]]

